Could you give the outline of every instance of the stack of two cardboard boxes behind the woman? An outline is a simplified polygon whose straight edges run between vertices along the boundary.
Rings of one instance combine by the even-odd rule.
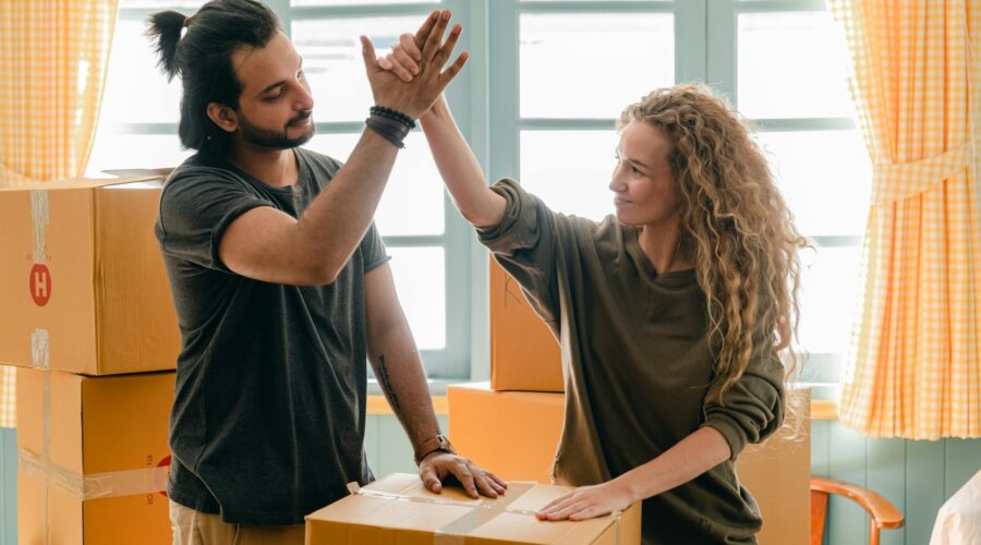
[[[448,388],[450,438],[502,479],[549,483],[565,414],[562,386],[555,337],[492,258],[491,382]],[[807,409],[809,391],[792,397]],[[807,422],[801,427],[750,445],[737,462],[740,482],[763,512],[763,545],[808,540],[810,434]]]

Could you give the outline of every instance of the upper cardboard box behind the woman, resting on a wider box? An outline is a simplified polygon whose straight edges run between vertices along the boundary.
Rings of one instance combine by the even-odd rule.
[[[559,344],[521,286],[491,257],[491,388],[565,391]]]

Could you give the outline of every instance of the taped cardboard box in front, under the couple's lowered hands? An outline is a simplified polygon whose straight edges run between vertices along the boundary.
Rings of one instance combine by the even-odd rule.
[[[570,491],[511,483],[497,499],[471,499],[461,489],[426,491],[419,475],[395,473],[306,517],[306,545],[640,543],[640,509],[588,521],[543,522],[534,511]]]

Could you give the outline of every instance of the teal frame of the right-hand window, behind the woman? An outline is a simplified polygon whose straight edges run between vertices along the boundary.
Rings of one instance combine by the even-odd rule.
[[[627,1],[543,1],[485,0],[488,9],[491,35],[488,43],[491,66],[488,96],[489,116],[489,180],[504,177],[520,179],[521,131],[580,130],[608,131],[613,119],[528,119],[519,109],[519,17],[522,13],[673,13],[675,21],[675,82],[706,82],[725,95],[738,108],[737,86],[737,22],[740,13],[820,12],[824,0],[627,0]],[[626,105],[625,105],[626,106]],[[829,131],[855,129],[850,118],[751,119],[760,132],[768,131]],[[809,235],[818,249],[858,247],[861,235]],[[476,266],[476,265],[475,265]],[[484,265],[486,268],[486,265]],[[486,276],[474,277],[486,286]],[[473,323],[486,330],[486,301],[473,300]],[[849,308],[850,311],[850,308]],[[803,312],[807,312],[806,310]],[[482,339],[483,340],[483,339]],[[489,376],[489,364],[472,356],[475,378]],[[815,383],[838,383],[846,354],[838,352],[808,352],[802,379]]]

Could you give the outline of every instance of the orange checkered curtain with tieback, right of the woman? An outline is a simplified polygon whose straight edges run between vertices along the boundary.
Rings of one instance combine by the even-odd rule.
[[[981,0],[829,4],[874,165],[840,421],[981,437]]]

